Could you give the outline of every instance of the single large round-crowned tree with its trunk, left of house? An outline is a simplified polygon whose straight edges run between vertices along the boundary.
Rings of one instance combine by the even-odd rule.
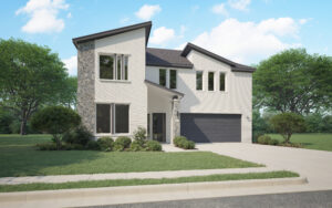
[[[22,40],[0,40],[0,105],[27,122],[38,108],[63,91],[68,74],[58,54]]]

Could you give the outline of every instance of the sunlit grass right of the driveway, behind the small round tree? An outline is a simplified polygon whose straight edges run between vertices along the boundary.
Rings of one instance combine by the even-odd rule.
[[[279,134],[270,134],[272,138],[283,141]],[[292,143],[301,143],[304,148],[332,150],[332,134],[294,134]]]

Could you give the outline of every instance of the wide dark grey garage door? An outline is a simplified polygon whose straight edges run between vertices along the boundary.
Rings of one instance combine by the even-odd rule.
[[[241,142],[240,114],[180,114],[183,136],[196,143]]]

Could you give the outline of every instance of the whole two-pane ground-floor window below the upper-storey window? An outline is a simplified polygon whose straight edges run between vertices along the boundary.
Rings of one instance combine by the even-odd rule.
[[[97,104],[96,133],[129,133],[129,105]]]

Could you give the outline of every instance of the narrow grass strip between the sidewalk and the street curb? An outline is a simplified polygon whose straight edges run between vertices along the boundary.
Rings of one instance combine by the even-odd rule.
[[[62,184],[23,184],[23,185],[0,185],[0,193],[11,191],[29,191],[29,190],[54,190],[70,188],[96,188],[96,187],[114,187],[114,186],[141,186],[156,184],[183,184],[199,181],[222,181],[222,180],[240,180],[240,179],[267,179],[267,178],[286,178],[299,177],[298,174],[291,171],[268,171],[251,174],[222,174],[209,176],[191,176],[179,178],[160,178],[160,179],[116,179],[116,180],[87,180]]]

